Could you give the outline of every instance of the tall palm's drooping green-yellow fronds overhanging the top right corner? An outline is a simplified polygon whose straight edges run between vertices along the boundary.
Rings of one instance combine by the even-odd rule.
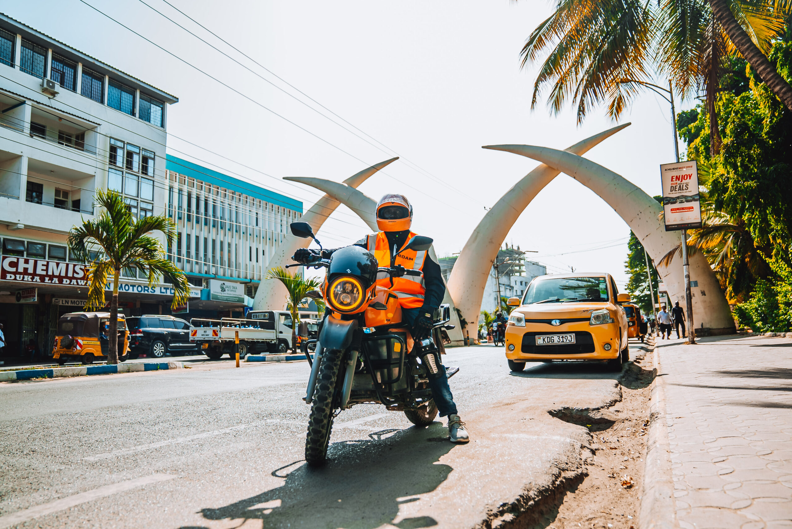
[[[765,56],[782,35],[792,2],[734,0],[731,10],[722,6],[725,0],[558,0],[522,49],[523,67],[546,55],[531,107],[550,86],[553,112],[572,97],[580,123],[592,105],[607,101],[616,120],[655,71],[683,97],[702,89],[713,102],[723,55],[739,51],[792,109],[792,87]]]

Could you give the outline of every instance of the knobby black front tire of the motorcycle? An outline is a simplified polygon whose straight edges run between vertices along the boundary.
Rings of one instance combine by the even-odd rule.
[[[342,353],[333,349],[322,355],[305,439],[305,460],[310,466],[321,466],[327,459],[327,446],[333,430],[333,400]]]

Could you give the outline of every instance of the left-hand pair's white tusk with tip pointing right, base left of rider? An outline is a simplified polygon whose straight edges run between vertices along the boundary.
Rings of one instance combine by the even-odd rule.
[[[396,160],[398,160],[398,156],[396,158],[390,158],[390,160],[386,160],[384,162],[379,162],[374,166],[367,167],[367,169],[363,169],[360,171],[360,173],[356,173],[351,177],[348,177],[344,181],[344,184],[351,188],[356,188],[360,184],[363,184],[364,181],[366,181],[366,179],[372,174],[379,171],[379,169],[382,169]],[[305,215],[303,215],[302,219],[300,220],[309,223],[310,226],[314,228],[314,233],[316,233],[318,232],[319,228],[322,227],[322,224],[325,223],[330,214],[332,214],[333,211],[336,211],[336,208],[339,205],[341,205],[341,203],[338,200],[333,199],[332,196],[322,196],[316,201],[316,204],[311,206],[310,209],[306,211]],[[297,251],[299,248],[306,248],[309,244],[310,239],[295,237],[291,234],[291,231],[289,231],[284,235],[284,242],[281,242],[280,246],[275,249],[275,253],[269,259],[268,264],[264,268],[264,272],[266,273],[269,268],[291,264],[291,256],[294,255],[295,251]],[[288,292],[286,291],[286,287],[284,287],[284,284],[282,284],[280,281],[261,280],[261,284],[256,291],[256,299],[253,300],[253,309],[281,310],[286,304],[287,296]]]

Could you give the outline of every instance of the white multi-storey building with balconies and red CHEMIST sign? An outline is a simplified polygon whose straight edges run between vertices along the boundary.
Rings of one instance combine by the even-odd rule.
[[[68,254],[67,234],[99,214],[97,189],[124,193],[135,215],[165,211],[166,124],[168,105],[176,102],[0,14],[0,323],[6,354],[31,340],[47,351],[59,314],[81,309],[85,274]],[[141,301],[162,306],[171,297],[166,285],[144,284],[125,278],[124,310],[139,309]]]

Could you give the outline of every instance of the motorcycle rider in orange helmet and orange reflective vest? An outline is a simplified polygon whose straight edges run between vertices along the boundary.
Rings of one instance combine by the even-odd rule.
[[[413,206],[406,196],[387,194],[377,204],[377,227],[381,231],[367,235],[355,245],[367,249],[374,254],[379,266],[390,267],[390,256],[402,249],[415,233],[409,230],[413,223]],[[322,258],[329,258],[336,249],[322,250]],[[309,262],[313,256],[319,255],[317,249],[298,249],[292,259],[299,263]],[[402,321],[412,327],[413,340],[428,337],[432,331],[432,314],[440,306],[445,295],[445,284],[440,273],[440,265],[429,257],[427,251],[406,251],[398,255],[396,265],[421,270],[421,277],[403,276],[393,278],[393,290],[398,293],[399,304],[402,306]],[[390,276],[383,274],[377,278],[377,284],[390,288]],[[440,374],[429,379],[440,417],[448,417],[448,437],[452,443],[467,443],[470,440],[465,423],[459,418],[456,405],[448,386],[445,367],[440,365]]]

